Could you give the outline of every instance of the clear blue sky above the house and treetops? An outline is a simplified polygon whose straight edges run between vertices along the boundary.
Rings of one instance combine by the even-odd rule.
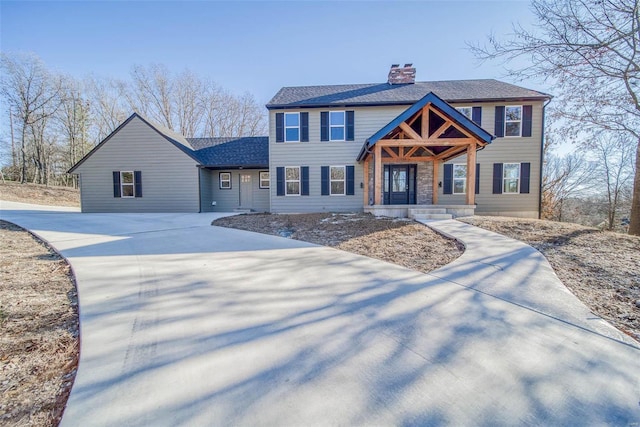
[[[126,78],[134,64],[189,68],[261,103],[282,86],[373,83],[392,63],[418,80],[498,78],[467,41],[531,25],[526,1],[0,1],[0,47],[51,69]],[[522,86],[546,91],[540,82]]]

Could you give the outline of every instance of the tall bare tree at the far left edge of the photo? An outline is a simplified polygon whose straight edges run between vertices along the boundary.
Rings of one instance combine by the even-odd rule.
[[[24,183],[28,174],[27,144],[35,144],[37,151],[44,155],[44,141],[39,139],[42,138],[43,132],[34,126],[56,113],[60,105],[60,79],[52,76],[34,55],[9,56],[2,53],[0,66],[1,94],[19,119],[20,182]],[[42,178],[42,169],[38,170],[38,176]]]

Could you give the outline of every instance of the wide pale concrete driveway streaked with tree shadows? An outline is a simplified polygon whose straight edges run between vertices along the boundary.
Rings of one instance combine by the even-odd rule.
[[[640,422],[637,343],[544,258],[488,257],[508,241],[493,233],[443,223],[480,240],[425,275],[211,227],[215,214],[2,202],[1,217],[47,239],[78,280],[64,426]]]

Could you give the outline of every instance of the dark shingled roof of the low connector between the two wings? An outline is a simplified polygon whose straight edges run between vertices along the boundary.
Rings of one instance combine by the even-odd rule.
[[[269,167],[269,137],[187,138],[204,167],[217,169]]]

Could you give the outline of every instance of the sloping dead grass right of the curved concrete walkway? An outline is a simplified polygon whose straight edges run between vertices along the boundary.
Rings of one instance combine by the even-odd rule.
[[[538,249],[587,307],[640,341],[640,237],[534,219],[474,216],[462,221]]]

